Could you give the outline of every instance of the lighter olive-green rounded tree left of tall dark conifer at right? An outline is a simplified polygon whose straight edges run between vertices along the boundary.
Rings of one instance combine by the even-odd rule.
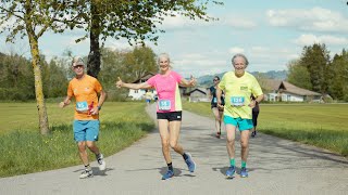
[[[287,81],[303,88],[311,90],[312,89],[312,83],[311,83],[311,78],[310,74],[307,70],[306,66],[302,66],[298,60],[289,62],[287,65],[288,67],[288,76],[287,76]]]

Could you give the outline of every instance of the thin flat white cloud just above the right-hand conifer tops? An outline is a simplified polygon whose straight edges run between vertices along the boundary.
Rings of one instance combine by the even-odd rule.
[[[332,46],[347,46],[348,39],[344,37],[334,37],[334,36],[315,36],[312,34],[301,35],[297,38],[295,43],[299,46],[308,46],[313,43],[325,43]]]

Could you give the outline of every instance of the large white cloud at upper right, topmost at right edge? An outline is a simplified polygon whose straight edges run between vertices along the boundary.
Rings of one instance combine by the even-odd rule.
[[[272,26],[295,27],[299,30],[348,31],[348,18],[341,13],[322,8],[269,10],[266,12]]]

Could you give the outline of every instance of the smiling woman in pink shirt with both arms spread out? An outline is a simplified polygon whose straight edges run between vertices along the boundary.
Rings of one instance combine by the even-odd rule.
[[[178,136],[182,125],[182,100],[178,84],[183,87],[194,87],[196,79],[186,80],[177,73],[171,69],[171,61],[166,53],[160,54],[158,58],[160,73],[142,83],[125,83],[120,77],[116,82],[117,88],[148,89],[156,88],[158,93],[157,119],[162,141],[162,152],[167,165],[167,172],[163,174],[162,180],[167,180],[174,176],[170,147],[176,153],[183,155],[183,158],[190,172],[196,169],[196,164],[188,153],[184,152],[178,144]]]

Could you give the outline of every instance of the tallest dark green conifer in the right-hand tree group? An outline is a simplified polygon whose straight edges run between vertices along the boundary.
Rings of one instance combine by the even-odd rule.
[[[330,75],[326,74],[330,65],[330,52],[325,44],[314,43],[304,47],[300,64],[307,67],[310,74],[312,90],[322,94],[327,93]]]

